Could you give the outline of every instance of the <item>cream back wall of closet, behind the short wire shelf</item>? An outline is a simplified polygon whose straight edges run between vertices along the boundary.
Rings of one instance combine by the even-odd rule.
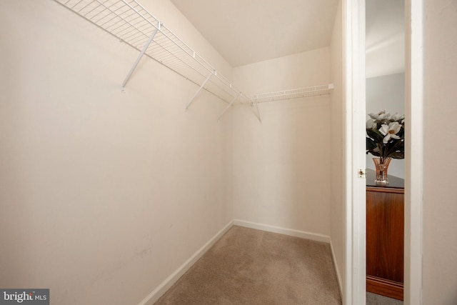
[[[233,69],[244,92],[328,84],[330,49]],[[313,234],[330,233],[330,96],[233,109],[235,219]]]

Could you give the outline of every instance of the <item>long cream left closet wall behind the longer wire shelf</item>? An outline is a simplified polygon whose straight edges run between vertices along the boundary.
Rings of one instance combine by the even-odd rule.
[[[228,64],[168,0],[143,1]],[[163,16],[163,17],[161,17]],[[139,304],[233,219],[231,114],[54,1],[0,3],[0,287]],[[219,68],[221,67],[221,68]]]

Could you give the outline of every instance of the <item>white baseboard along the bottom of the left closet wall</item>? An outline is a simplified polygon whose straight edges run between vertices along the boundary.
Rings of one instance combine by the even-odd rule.
[[[179,268],[176,269],[176,271],[174,271],[173,274],[171,274],[156,289],[154,289],[154,291],[152,291],[151,294],[146,296],[146,298],[144,298],[144,300],[141,301],[139,305],[152,305],[157,300],[159,300],[160,297],[164,295],[165,292],[168,289],[170,289],[170,287],[173,286],[173,284],[176,281],[178,281],[178,279],[181,276],[183,276],[186,273],[186,271],[188,271],[189,268],[191,268],[191,266],[194,265],[196,261],[198,261],[201,258],[201,256],[203,256],[206,253],[206,251],[208,251],[211,248],[211,246],[213,246],[216,243],[216,241],[218,241],[222,237],[222,235],[226,233],[226,231],[229,231],[231,226],[233,226],[233,220],[230,221],[229,224],[224,226],[224,228],[221,229],[221,231],[219,231],[215,236],[213,236],[213,238],[211,238],[206,244],[204,244],[204,246],[202,246],[198,251],[196,251],[194,255],[192,255],[184,264],[179,266]]]

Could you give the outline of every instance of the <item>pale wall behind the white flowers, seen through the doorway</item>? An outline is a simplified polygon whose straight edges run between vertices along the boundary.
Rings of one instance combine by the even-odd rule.
[[[368,114],[386,110],[390,114],[405,114],[405,74],[390,74],[366,79],[366,119]],[[375,169],[373,155],[366,155],[366,167]],[[404,159],[392,159],[388,174],[405,177]]]

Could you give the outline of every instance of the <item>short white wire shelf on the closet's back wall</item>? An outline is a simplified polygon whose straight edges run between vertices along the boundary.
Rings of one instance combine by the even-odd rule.
[[[267,101],[283,101],[286,99],[298,99],[308,96],[319,96],[330,94],[333,90],[333,84],[311,86],[301,89],[291,89],[284,91],[268,92],[264,94],[256,94],[251,96],[251,99],[256,103],[264,103]]]

